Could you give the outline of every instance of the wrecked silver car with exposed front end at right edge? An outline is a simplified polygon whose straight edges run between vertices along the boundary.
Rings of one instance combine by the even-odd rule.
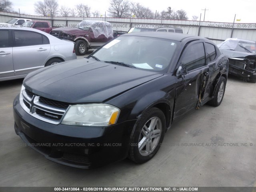
[[[218,47],[229,58],[229,73],[256,83],[256,42],[228,38]]]

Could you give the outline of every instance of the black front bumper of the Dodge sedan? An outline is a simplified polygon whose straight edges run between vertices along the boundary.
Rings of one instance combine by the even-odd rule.
[[[51,161],[86,169],[122,160],[128,155],[136,120],[108,127],[54,125],[25,112],[18,96],[13,107],[16,134]]]

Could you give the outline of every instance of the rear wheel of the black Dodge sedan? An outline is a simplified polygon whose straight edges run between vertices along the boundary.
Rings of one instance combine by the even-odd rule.
[[[214,98],[208,102],[208,104],[214,107],[219,106],[223,100],[226,89],[226,78],[221,76],[217,86],[218,87],[216,93],[214,94]]]

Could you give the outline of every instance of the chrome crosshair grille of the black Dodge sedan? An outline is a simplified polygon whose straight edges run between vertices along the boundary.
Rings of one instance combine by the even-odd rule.
[[[68,103],[38,96],[22,86],[20,104],[30,115],[42,121],[59,124],[69,107]]]

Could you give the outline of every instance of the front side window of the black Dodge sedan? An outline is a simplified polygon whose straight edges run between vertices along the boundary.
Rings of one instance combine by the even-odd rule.
[[[196,43],[188,46],[183,53],[182,64],[186,66],[187,71],[205,66],[204,44]]]

